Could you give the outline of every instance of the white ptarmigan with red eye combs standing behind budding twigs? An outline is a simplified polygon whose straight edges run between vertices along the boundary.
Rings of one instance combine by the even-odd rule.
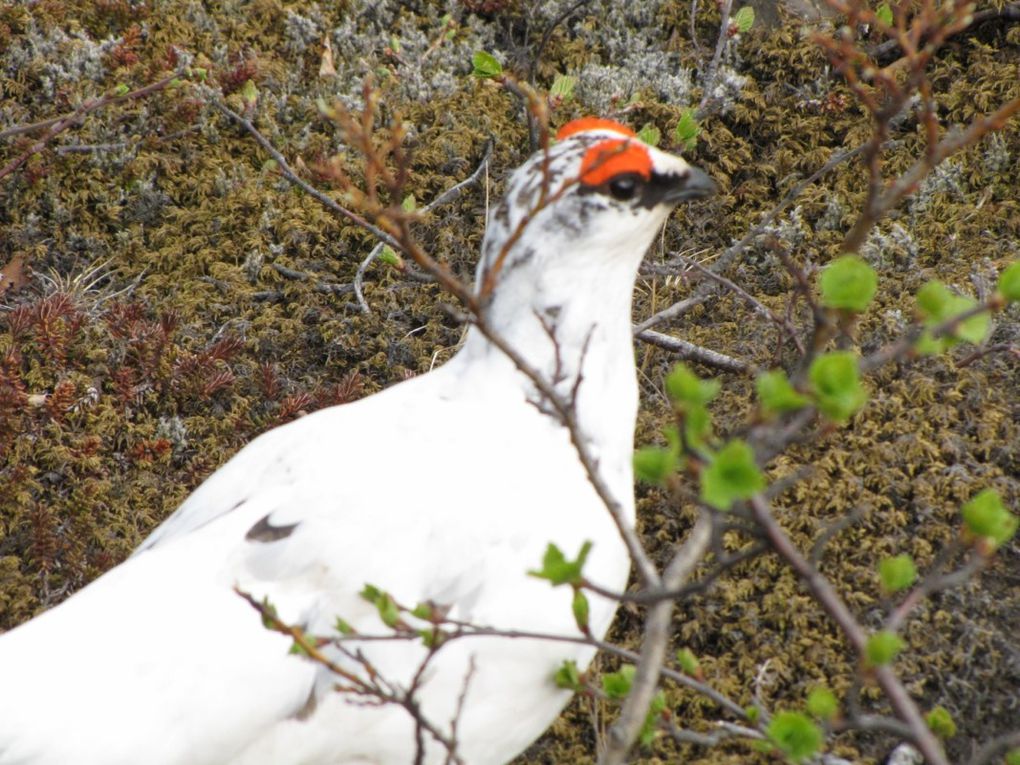
[[[615,122],[577,120],[558,138],[514,172],[490,216],[483,313],[572,400],[632,523],[638,266],[672,207],[713,184]],[[0,764],[445,762],[448,749],[406,708],[339,691],[343,677],[292,653],[237,590],[309,635],[336,636],[338,617],[359,634],[392,634],[359,596],[371,583],[451,619],[576,636],[570,589],[527,572],[550,543],[572,557],[585,542],[585,577],[622,591],[629,558],[570,434],[471,327],[441,368],[254,440],[124,563],[0,636]],[[615,608],[591,596],[596,638]],[[427,655],[410,639],[342,645],[348,653],[322,651],[398,691]],[[506,762],[569,701],[556,668],[583,669],[593,654],[451,640],[419,678],[418,716],[456,738],[465,765]]]

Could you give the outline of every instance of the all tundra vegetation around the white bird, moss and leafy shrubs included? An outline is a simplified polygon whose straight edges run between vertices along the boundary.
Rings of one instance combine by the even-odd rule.
[[[519,761],[1020,761],[1020,6],[828,2],[0,8],[0,628],[447,358],[505,171],[597,113],[721,189],[635,296],[634,576]],[[532,575],[591,640],[583,554]]]

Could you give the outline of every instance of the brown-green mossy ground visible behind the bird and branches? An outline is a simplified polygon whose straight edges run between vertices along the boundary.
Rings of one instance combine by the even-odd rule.
[[[528,149],[519,105],[469,76],[464,52],[497,50],[526,74],[555,14],[527,3],[447,9],[409,2],[385,12],[353,2],[217,7],[206,11],[187,0],[4,6],[4,126],[64,113],[120,84],[141,87],[190,54],[235,104],[237,91],[252,80],[257,125],[292,162],[301,158],[312,167],[343,148],[316,99],[354,97],[372,72],[386,109],[414,125],[411,190],[419,204],[469,174],[484,142],[495,139],[486,190],[463,195],[418,226],[428,250],[469,277],[487,194],[499,193],[503,173]],[[690,102],[664,101],[661,94],[682,83],[657,79],[703,59],[686,40],[688,3],[642,8],[633,13],[647,11],[654,26],[634,26],[629,16],[626,23],[604,23],[598,8],[579,11],[549,36],[537,83],[548,88],[558,71],[610,65],[621,45],[651,40],[650,49],[663,56],[661,70],[642,72],[647,85],[626,94],[636,99],[620,101],[617,116],[635,128],[658,124],[668,143],[680,109],[698,94]],[[449,39],[446,10],[455,21]],[[714,8],[703,10],[702,46],[714,43],[717,20]],[[339,74],[319,76],[321,37],[342,24],[343,36],[334,38]],[[745,37],[734,63],[748,78],[741,95],[706,121],[690,153],[723,193],[676,216],[653,261],[692,245],[709,257],[721,251],[832,151],[869,134],[853,99],[825,76],[825,61],[800,22]],[[942,124],[966,123],[1020,95],[1018,44],[1017,28],[988,23],[946,48],[932,76]],[[567,101],[554,121],[589,108]],[[895,138],[890,171],[921,151],[912,120]],[[2,161],[30,143],[6,140]],[[863,351],[902,329],[910,296],[926,279],[980,293],[997,267],[1017,257],[1018,156],[1014,123],[954,158],[938,184],[882,221],[881,237],[866,253],[881,282],[859,330]],[[10,273],[16,262],[29,274],[0,298],[7,306],[0,312],[0,628],[121,560],[258,432],[420,373],[456,346],[460,328],[441,307],[438,289],[398,270],[381,264],[369,270],[370,314],[349,293],[316,289],[350,285],[374,243],[291,188],[264,160],[247,135],[185,86],[90,115],[0,180],[0,270]],[[864,171],[854,163],[810,187],[799,200],[799,219],[786,216],[780,233],[792,256],[806,267],[831,259],[863,191]],[[291,271],[307,277],[286,275]],[[730,275],[784,310],[793,285],[764,249],[753,250]],[[643,277],[636,315],[688,290],[680,278]],[[1015,307],[1001,316],[990,342],[1016,344],[1018,318]],[[774,327],[732,296],[670,330],[760,365],[776,355]],[[638,354],[646,394],[639,441],[647,443],[668,419],[659,389],[673,360],[648,347]],[[778,355],[792,358],[788,348]],[[1014,508],[1020,500],[1020,364],[994,354],[962,365],[966,355],[958,350],[882,370],[869,379],[872,400],[851,425],[821,434],[771,466],[774,477],[810,467],[778,510],[802,547],[848,512],[860,514],[830,542],[821,565],[867,626],[880,623],[887,605],[874,574],[880,558],[909,552],[923,572],[958,534],[959,506],[976,491],[993,487]],[[714,408],[722,432],[746,421],[752,393],[750,379],[724,381]],[[693,517],[647,490],[640,512],[645,540],[661,559]],[[949,742],[954,760],[1020,719],[1018,563],[1017,544],[1007,545],[978,578],[926,601],[905,629],[909,650],[897,669],[923,708],[941,704],[953,713],[960,727]],[[640,624],[640,613],[624,609],[613,638],[633,644]],[[846,692],[853,676],[835,627],[771,555],[743,564],[679,608],[675,647],[681,646],[701,657],[708,681],[745,704],[767,662],[760,692],[772,709],[802,704],[816,683]],[[870,687],[864,695],[877,698]],[[673,688],[668,697],[678,724],[703,728],[717,717],[705,699]],[[575,701],[521,761],[592,761],[590,707]],[[883,709],[880,702],[876,709]],[[598,720],[605,723],[606,710]],[[879,736],[860,735],[839,738],[833,751],[874,761],[886,746]],[[704,750],[660,741],[638,759],[770,757],[744,743]]]

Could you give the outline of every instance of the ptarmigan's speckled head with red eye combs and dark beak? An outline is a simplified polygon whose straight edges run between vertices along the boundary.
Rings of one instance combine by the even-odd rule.
[[[489,216],[477,278],[483,302],[494,290],[523,287],[513,285],[517,272],[525,272],[524,289],[584,284],[620,268],[633,274],[673,207],[715,190],[705,172],[618,122],[576,119],[556,138],[513,173]]]

